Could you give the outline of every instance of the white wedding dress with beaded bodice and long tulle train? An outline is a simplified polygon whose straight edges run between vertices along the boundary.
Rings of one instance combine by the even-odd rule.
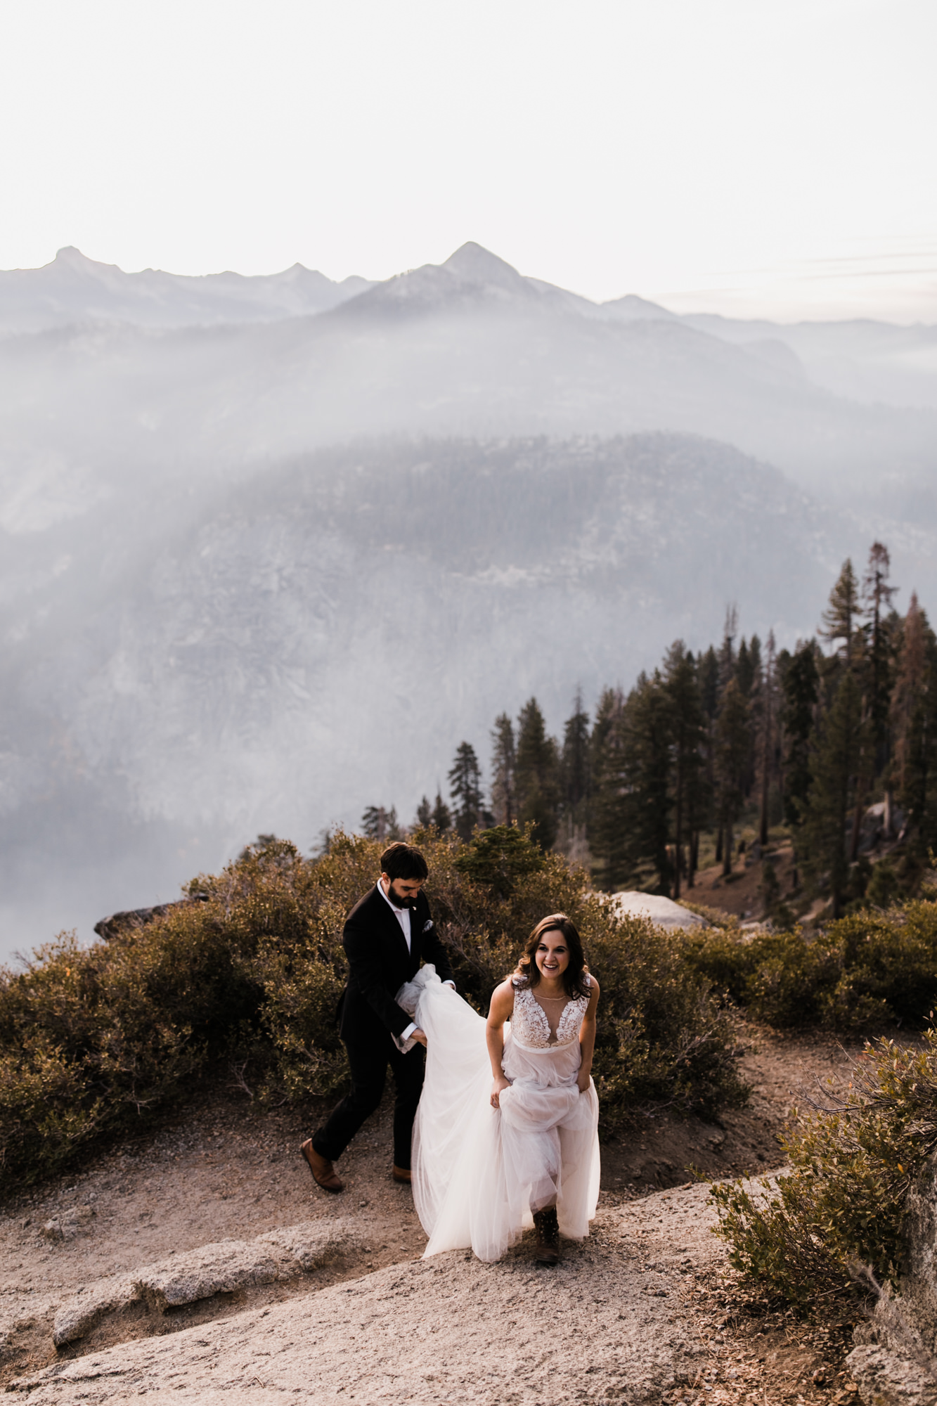
[[[598,1098],[581,1094],[580,1026],[568,1001],[550,1043],[546,1012],[515,988],[502,1069],[511,1087],[491,1107],[485,1021],[422,967],[397,1001],[426,1033],[426,1080],[414,1123],[412,1188],[426,1256],[471,1246],[498,1260],[532,1212],[556,1201],[560,1233],[588,1234],[599,1192]]]

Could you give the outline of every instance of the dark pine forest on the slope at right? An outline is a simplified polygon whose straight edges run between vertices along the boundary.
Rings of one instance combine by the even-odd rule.
[[[677,640],[592,714],[575,692],[559,738],[532,697],[516,721],[494,720],[488,792],[463,741],[447,799],[423,797],[418,823],[463,838],[532,823],[606,889],[688,897],[701,837],[729,875],[746,815],[758,846],[786,827],[806,891],[829,894],[833,917],[913,890],[937,844],[937,637],[916,595],[900,616],[895,593],[875,543],[861,574],[843,564],[817,634],[793,648],[739,638],[730,609],[719,644],[694,654]],[[363,817],[371,835],[395,824],[387,807]],[[767,903],[791,921],[779,894]]]

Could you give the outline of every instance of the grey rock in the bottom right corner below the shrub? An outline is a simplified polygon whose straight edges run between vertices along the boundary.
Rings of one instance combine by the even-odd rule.
[[[886,1285],[847,1358],[867,1406],[937,1406],[937,1160],[907,1198],[899,1292]]]

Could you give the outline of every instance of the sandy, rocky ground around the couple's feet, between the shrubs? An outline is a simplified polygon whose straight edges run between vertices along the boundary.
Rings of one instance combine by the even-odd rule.
[[[421,1261],[425,1236],[409,1189],[390,1178],[387,1101],[342,1160],[345,1194],[326,1197],[297,1156],[314,1114],[305,1119],[297,1111],[263,1114],[221,1085],[136,1142],[94,1157],[79,1175],[4,1204],[0,1382],[8,1389],[35,1381],[53,1364],[56,1375],[32,1388],[37,1402],[118,1400],[139,1389],[159,1399],[153,1393],[170,1386],[173,1400],[186,1399],[190,1391],[191,1399],[208,1400],[208,1368],[197,1367],[191,1344],[210,1341],[204,1353],[221,1364],[231,1358],[234,1372],[234,1360],[245,1355],[246,1346],[269,1339],[276,1346],[257,1350],[280,1362],[277,1399],[284,1391],[298,1391],[311,1402],[348,1400],[342,1378],[349,1361],[360,1358],[367,1385],[357,1400],[549,1403],[567,1399],[547,1385],[556,1374],[564,1391],[568,1386],[568,1399],[578,1392],[595,1400],[734,1402],[756,1391],[761,1406],[765,1400],[846,1400],[841,1361],[850,1346],[848,1324],[808,1329],[777,1306],[740,1295],[720,1241],[709,1232],[705,1188],[689,1185],[691,1167],[709,1177],[777,1167],[782,1160],[778,1132],[798,1091],[847,1066],[848,1052],[833,1039],[748,1035],[748,1108],[727,1114],[720,1125],[646,1119],[633,1136],[606,1144],[594,1234],[582,1246],[567,1247],[556,1272],[535,1267],[526,1243],[499,1265],[463,1256]],[[688,1218],[691,1202],[695,1209]],[[167,1313],[138,1303],[59,1353],[52,1346],[56,1306],[106,1275],[181,1249],[252,1239],[277,1226],[336,1215],[360,1225],[363,1243],[300,1281],[219,1294]],[[45,1239],[42,1227],[49,1220],[66,1226],[69,1237]],[[661,1277],[657,1286],[654,1274]],[[553,1285],[546,1299],[544,1282]],[[349,1358],[352,1308],[362,1329]],[[571,1323],[582,1312],[585,1358],[566,1343],[566,1327],[556,1329],[557,1313],[560,1322]],[[373,1331],[364,1331],[367,1323]],[[477,1331],[460,1347],[461,1340],[452,1339],[453,1324],[464,1323]],[[446,1344],[445,1382],[431,1381],[425,1344],[414,1355],[414,1331],[421,1343],[429,1336]],[[167,1341],[179,1333],[184,1337]],[[385,1340],[395,1334],[411,1346],[388,1357]],[[377,1346],[367,1347],[364,1361],[360,1354],[369,1337]],[[515,1340],[523,1344],[521,1355]],[[511,1344],[506,1357],[505,1344]],[[111,1367],[104,1376],[97,1368],[89,1376],[98,1358]],[[530,1361],[540,1364],[532,1374],[526,1371]],[[191,1378],[184,1392],[183,1378],[170,1384],[166,1376],[183,1372],[180,1362],[189,1364],[184,1372]],[[308,1381],[311,1362],[318,1395]],[[266,1382],[260,1365],[255,1364],[253,1376]],[[267,1399],[256,1395],[267,1392],[266,1386],[242,1378],[238,1367],[225,1378],[228,1391],[239,1384],[245,1400]],[[225,1395],[229,1403],[235,1399],[241,1398]]]

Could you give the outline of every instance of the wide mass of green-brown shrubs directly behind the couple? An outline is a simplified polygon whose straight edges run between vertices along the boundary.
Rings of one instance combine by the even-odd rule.
[[[713,1112],[744,1098],[732,1014],[680,941],[619,918],[587,875],[543,855],[530,831],[466,845],[428,830],[428,893],[460,991],[487,1010],[533,925],[566,911],[602,984],[595,1080],[606,1130],[639,1108]],[[248,1060],[266,1101],[336,1097],[346,1080],[336,1007],[342,928],[378,873],[381,845],[336,834],[307,860],[264,838],[144,928],[39,949],[0,973],[0,1164],[4,1184],[65,1166],[96,1136],[180,1097],[210,1060]]]

